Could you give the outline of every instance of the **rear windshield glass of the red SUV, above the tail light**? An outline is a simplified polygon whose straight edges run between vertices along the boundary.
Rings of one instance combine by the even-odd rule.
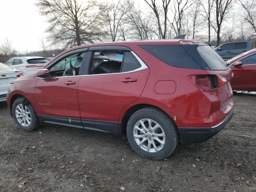
[[[229,68],[226,62],[210,46],[198,46],[197,51],[210,70],[227,70]]]

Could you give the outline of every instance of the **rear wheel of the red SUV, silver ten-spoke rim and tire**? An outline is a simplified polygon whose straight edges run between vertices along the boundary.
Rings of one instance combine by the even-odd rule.
[[[127,138],[142,157],[160,160],[168,157],[178,144],[172,119],[157,108],[142,108],[128,120]]]

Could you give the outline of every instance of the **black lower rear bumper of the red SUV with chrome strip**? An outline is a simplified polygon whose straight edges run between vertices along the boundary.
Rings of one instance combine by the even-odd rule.
[[[190,128],[179,127],[179,133],[182,144],[202,143],[207,141],[222,130],[232,119],[234,110],[232,109],[228,116],[222,122],[212,127]]]

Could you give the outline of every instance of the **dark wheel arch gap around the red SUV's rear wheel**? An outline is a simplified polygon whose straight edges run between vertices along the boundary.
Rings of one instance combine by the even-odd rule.
[[[160,107],[154,106],[152,104],[146,104],[146,103],[145,104],[136,104],[136,105],[133,105],[130,108],[128,108],[126,110],[126,112],[124,113],[124,115],[122,117],[122,121],[120,122],[119,133],[122,135],[126,134],[126,126],[127,126],[130,116],[132,116],[132,114],[134,114],[136,111],[138,111],[142,108],[146,108],[146,107],[152,107],[152,108],[157,108],[157,109],[161,110],[174,122],[172,117],[168,113],[166,113],[163,109],[161,109]],[[174,124],[176,125],[175,122],[174,122]],[[177,128],[177,125],[176,125],[176,128]],[[178,132],[178,128],[177,128],[177,132]],[[179,132],[178,132],[178,135],[180,136]]]

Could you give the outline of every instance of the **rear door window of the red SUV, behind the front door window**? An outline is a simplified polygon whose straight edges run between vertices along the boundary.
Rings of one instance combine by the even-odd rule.
[[[98,50],[93,54],[89,74],[129,72],[141,67],[130,51]]]

